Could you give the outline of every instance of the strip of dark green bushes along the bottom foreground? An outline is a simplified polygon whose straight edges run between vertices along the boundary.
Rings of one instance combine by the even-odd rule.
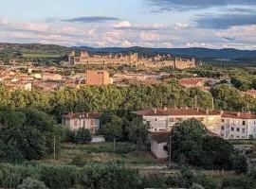
[[[28,179],[29,178],[29,179]],[[0,187],[69,189],[143,189],[143,188],[194,188],[205,189],[254,189],[255,174],[229,176],[225,178],[195,174],[184,167],[180,174],[141,175],[137,170],[123,168],[117,164],[74,165],[46,164],[0,164]]]

